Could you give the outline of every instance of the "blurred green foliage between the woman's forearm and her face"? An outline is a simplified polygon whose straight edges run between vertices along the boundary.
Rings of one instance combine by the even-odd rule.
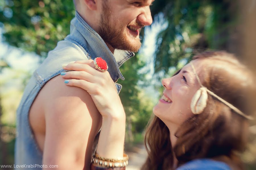
[[[122,85],[119,96],[127,118],[133,125],[132,132],[142,132],[144,130],[153,108],[152,101],[141,92],[141,88],[138,86],[139,80],[146,84],[146,72],[141,74],[138,72],[145,66],[145,63],[139,58],[138,55],[135,55],[120,67],[125,81],[120,80],[118,82]]]

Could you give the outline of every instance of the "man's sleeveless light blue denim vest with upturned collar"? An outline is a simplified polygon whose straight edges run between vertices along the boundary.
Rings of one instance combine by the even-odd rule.
[[[15,168],[23,169],[18,166],[25,165],[25,168],[30,166],[32,169],[42,169],[42,152],[30,127],[28,113],[46,82],[61,72],[67,72],[62,69],[62,64],[102,57],[108,63],[108,71],[116,82],[119,78],[124,80],[119,67],[133,56],[133,52],[117,49],[112,54],[99,34],[76,12],[75,18],[71,20],[70,34],[58,42],[55,49],[49,51],[47,58],[36,69],[24,90],[16,113]],[[115,84],[119,93],[121,85]]]

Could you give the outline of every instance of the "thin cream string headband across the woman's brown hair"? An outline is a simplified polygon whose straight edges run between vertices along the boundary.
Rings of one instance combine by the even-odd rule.
[[[230,107],[232,110],[234,110],[234,111],[235,111],[236,113],[238,113],[239,115],[245,117],[246,119],[254,120],[253,117],[248,116],[248,115],[245,115],[245,114],[244,114],[242,111],[240,111],[238,108],[236,108],[236,107],[233,106],[232,104],[228,103],[226,100],[220,98],[219,96],[217,96],[216,94],[214,94],[213,92],[211,92],[210,90],[208,90],[205,86],[203,86],[203,84],[201,83],[201,81],[200,81],[200,79],[199,79],[199,76],[198,76],[198,74],[197,74],[197,72],[196,72],[196,70],[195,70],[194,65],[193,65],[192,63],[189,63],[189,64],[191,64],[191,67],[192,67],[192,69],[193,69],[193,72],[195,73],[195,76],[196,76],[196,78],[197,78],[197,82],[200,84],[201,87],[205,88],[206,91],[207,91],[210,95],[214,96],[214,97],[217,98],[219,101],[221,101],[222,103],[226,104],[228,107]]]

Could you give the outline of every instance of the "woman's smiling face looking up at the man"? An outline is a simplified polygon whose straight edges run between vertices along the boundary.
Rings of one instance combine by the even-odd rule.
[[[193,60],[196,72],[201,79],[204,60]],[[200,88],[191,64],[185,65],[178,74],[162,80],[164,92],[162,98],[153,108],[153,113],[165,124],[181,125],[193,115],[190,109],[191,99]]]

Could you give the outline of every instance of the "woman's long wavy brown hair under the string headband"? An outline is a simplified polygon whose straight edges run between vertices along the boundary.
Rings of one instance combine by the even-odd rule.
[[[255,108],[248,105],[248,95],[255,94],[254,81],[251,81],[253,75],[234,55],[224,51],[207,51],[193,57],[195,59],[211,60],[207,70],[204,70],[203,86],[246,115],[252,115]],[[237,153],[245,150],[247,132],[247,119],[208,95],[203,113],[193,115],[177,130],[174,148],[169,129],[153,115],[146,128],[144,142],[148,157],[141,170],[174,169],[174,156],[178,166],[193,159],[211,158],[224,161],[233,169],[243,169]]]

